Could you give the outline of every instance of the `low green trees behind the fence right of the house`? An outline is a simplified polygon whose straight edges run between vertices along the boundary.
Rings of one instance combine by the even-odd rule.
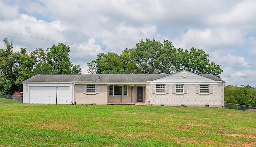
[[[250,85],[226,85],[224,88],[224,100],[228,103],[256,107],[256,87]]]

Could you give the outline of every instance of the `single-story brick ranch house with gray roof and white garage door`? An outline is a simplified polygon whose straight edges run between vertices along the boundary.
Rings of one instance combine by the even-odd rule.
[[[211,74],[35,75],[23,103],[223,107],[224,83]]]

